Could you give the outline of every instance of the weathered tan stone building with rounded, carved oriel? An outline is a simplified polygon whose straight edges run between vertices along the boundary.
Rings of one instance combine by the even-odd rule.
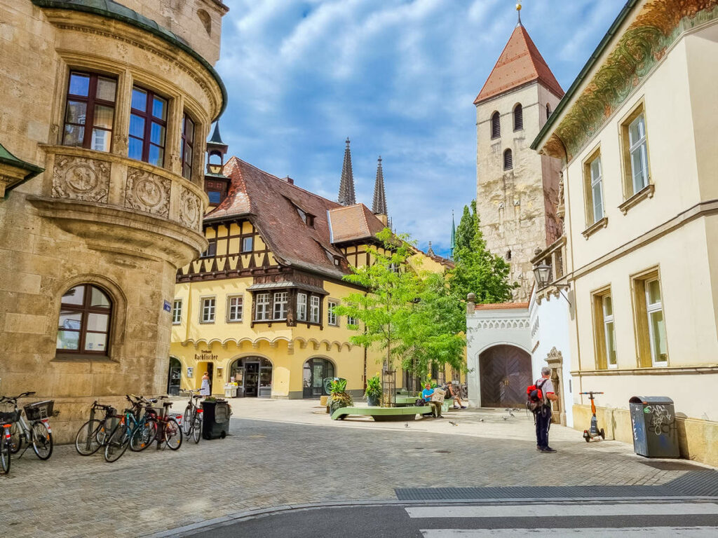
[[[206,250],[220,0],[0,0],[0,392],[164,392],[177,268]]]

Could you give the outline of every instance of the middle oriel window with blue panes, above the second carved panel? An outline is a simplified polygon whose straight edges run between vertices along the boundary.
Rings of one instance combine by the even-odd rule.
[[[132,88],[129,157],[164,166],[167,99],[139,86]]]

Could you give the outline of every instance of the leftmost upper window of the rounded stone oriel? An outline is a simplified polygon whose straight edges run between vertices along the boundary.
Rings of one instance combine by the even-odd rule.
[[[70,72],[62,144],[110,151],[116,93],[114,78]]]

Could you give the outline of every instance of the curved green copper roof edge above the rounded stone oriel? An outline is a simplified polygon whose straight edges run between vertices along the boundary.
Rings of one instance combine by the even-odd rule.
[[[208,70],[217,81],[217,84],[222,92],[222,106],[217,114],[217,118],[222,115],[227,107],[227,88],[225,88],[220,75],[215,71],[214,67],[210,65],[210,62],[205,60],[205,58],[202,57],[199,52],[195,51],[195,49],[192,49],[192,47],[187,44],[185,39],[182,39],[182,37],[177,34],[174,34],[168,29],[160,26],[152,19],[148,19],[146,16],[137,13],[137,11],[118,4],[113,0],[32,0],[32,3],[39,7],[85,11],[85,13],[105,16],[108,19],[116,19],[126,24],[131,24],[134,27],[143,29],[146,32],[150,32],[151,34],[164,39],[165,41],[173,44],[175,47],[187,52],[187,54],[192,56],[195,60],[197,60],[197,62],[200,62],[202,67],[205,67],[205,69]]]

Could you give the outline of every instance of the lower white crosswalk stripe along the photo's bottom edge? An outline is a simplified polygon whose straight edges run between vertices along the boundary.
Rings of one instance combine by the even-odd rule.
[[[621,529],[427,529],[424,538],[714,538],[718,527],[624,527]]]

